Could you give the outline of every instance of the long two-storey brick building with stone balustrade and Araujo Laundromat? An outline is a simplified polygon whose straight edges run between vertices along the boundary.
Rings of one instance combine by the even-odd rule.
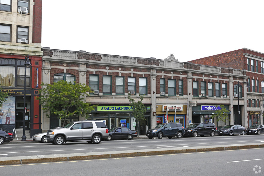
[[[216,105],[223,104],[233,117],[233,82],[247,79],[240,69],[179,62],[173,54],[157,60],[47,47],[42,51],[43,83],[63,79],[91,87],[94,93],[87,96],[86,102],[98,107],[88,119],[104,120],[108,128],[125,122],[128,128],[135,129],[128,93],[136,100],[138,95],[144,95],[147,112],[145,121],[139,122],[142,134],[162,122],[180,122],[184,127],[195,122],[222,125],[211,117]],[[196,101],[197,106],[193,106]],[[74,116],[68,122],[73,120],[82,119]],[[233,118],[230,120],[234,123]],[[43,130],[47,130],[61,122],[42,113],[42,124]]]

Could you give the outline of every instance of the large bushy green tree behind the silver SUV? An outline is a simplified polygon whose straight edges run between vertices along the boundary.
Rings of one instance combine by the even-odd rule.
[[[89,96],[88,92],[91,92],[90,87],[85,84],[76,84],[75,81],[71,84],[60,80],[54,84],[42,83],[41,86],[40,96],[36,99],[46,116],[49,118],[51,114],[56,115],[58,119],[62,119],[63,126],[66,119],[75,114],[88,118],[88,113],[97,106],[84,102],[84,98]]]

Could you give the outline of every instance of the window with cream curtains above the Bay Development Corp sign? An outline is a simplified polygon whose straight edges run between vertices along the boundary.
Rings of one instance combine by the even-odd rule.
[[[24,69],[23,69],[23,71],[24,71]],[[25,71],[24,71],[23,75],[24,74],[25,74]],[[0,76],[1,87],[15,87],[15,67],[13,67],[13,66],[0,66],[0,75],[1,75]],[[23,78],[23,80],[24,80],[24,78]]]

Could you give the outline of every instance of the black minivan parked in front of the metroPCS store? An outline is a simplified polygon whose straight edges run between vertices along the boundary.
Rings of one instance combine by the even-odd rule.
[[[194,123],[185,128],[184,136],[204,136],[210,135],[214,136],[217,132],[216,125],[213,123]]]

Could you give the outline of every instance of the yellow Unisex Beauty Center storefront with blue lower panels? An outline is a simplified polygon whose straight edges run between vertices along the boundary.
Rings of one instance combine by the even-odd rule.
[[[186,105],[157,105],[157,125],[160,123],[181,123],[185,128]]]

